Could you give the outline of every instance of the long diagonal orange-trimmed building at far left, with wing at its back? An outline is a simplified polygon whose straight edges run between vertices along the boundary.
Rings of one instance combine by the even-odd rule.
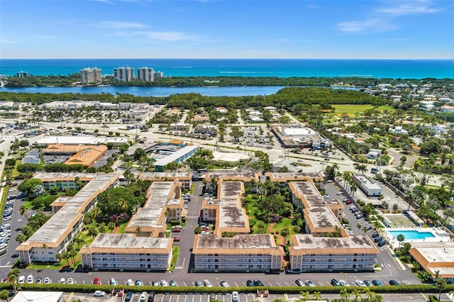
[[[33,178],[41,179],[45,189],[74,189],[76,179],[86,183],[74,196],[57,198],[52,203],[56,213],[25,242],[17,248],[19,259],[31,262],[55,262],[56,255],[65,252],[72,239],[82,230],[84,215],[96,206],[101,192],[117,186],[118,174],[88,173],[37,173]]]

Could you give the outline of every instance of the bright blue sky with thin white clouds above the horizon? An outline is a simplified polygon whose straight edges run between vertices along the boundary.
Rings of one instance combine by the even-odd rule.
[[[0,57],[454,59],[454,2],[0,0]]]

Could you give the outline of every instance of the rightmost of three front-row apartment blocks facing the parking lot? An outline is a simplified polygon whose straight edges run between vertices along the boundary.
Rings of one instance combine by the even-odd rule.
[[[295,234],[289,247],[292,272],[373,271],[380,252],[367,236]]]

